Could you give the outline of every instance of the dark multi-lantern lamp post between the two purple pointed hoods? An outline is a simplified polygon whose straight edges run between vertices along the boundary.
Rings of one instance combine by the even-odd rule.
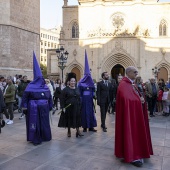
[[[68,52],[64,52],[63,46],[56,50],[57,58],[58,58],[58,67],[61,69],[62,72],[62,83],[63,83],[63,70],[66,67]]]

